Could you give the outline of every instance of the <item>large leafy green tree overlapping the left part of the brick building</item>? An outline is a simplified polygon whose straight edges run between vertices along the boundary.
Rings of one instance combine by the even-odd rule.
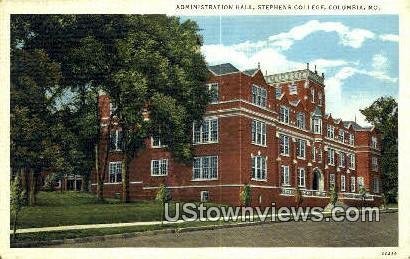
[[[118,70],[106,89],[122,130],[124,202],[129,164],[148,136],[159,137],[176,161],[192,161],[192,124],[202,120],[210,98],[196,23],[165,15],[134,15],[128,22],[132,26],[116,44]]]

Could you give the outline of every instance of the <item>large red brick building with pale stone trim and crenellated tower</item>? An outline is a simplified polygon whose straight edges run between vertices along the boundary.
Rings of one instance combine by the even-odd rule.
[[[324,75],[309,70],[264,76],[260,69],[239,71],[231,64],[209,67],[215,91],[204,116],[194,124],[192,166],[178,164],[159,139],[130,164],[130,198],[154,199],[165,184],[173,200],[240,205],[240,192],[251,186],[252,205],[302,206],[329,203],[336,186],[339,199],[360,204],[381,202],[380,137],[369,127],[326,114]],[[108,96],[100,96],[102,128],[110,114]],[[121,194],[121,150],[115,130],[104,194]],[[102,141],[100,148],[104,147]],[[92,177],[96,190],[96,177]]]

